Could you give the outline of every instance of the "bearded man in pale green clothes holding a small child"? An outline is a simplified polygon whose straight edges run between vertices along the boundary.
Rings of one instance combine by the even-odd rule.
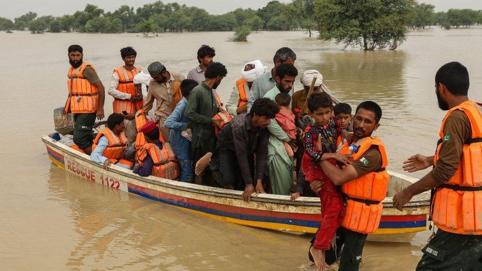
[[[289,93],[293,88],[296,76],[298,76],[298,70],[291,64],[281,64],[276,67],[276,85],[264,94],[264,98],[275,101],[278,93]],[[268,145],[267,172],[272,192],[273,194],[288,195],[293,186],[293,161],[286,153],[283,142],[294,145],[296,140],[286,134],[276,119],[272,119],[268,129],[271,135]]]

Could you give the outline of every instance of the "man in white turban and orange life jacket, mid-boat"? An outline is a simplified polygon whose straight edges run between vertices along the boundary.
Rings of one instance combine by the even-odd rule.
[[[241,68],[241,78],[236,81],[231,97],[226,103],[226,111],[232,116],[247,112],[247,103],[250,97],[250,89],[254,79],[259,75],[266,73],[267,68],[259,60],[246,63]]]

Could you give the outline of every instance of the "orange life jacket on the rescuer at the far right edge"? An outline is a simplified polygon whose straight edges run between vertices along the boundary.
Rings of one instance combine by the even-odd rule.
[[[432,220],[446,232],[482,234],[482,104],[465,101],[450,109],[442,121],[440,138],[434,164],[439,159],[443,141],[450,135],[443,134],[443,126],[450,113],[461,110],[467,114],[472,127],[472,139],[464,143],[463,155],[453,177],[437,187],[433,199]]]

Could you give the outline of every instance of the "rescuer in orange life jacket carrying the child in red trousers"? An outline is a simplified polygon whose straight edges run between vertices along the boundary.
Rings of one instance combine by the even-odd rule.
[[[375,102],[362,102],[353,120],[353,139],[347,141],[337,151],[340,154],[353,155],[348,166],[339,168],[325,160],[321,169],[337,186],[341,186],[346,200],[344,214],[339,217],[341,227],[336,232],[335,248],[322,250],[310,247],[309,257],[312,262],[325,270],[340,257],[340,271],[357,271],[360,267],[361,254],[368,233],[375,232],[380,224],[383,204],[388,190],[390,176],[386,170],[388,158],[383,142],[372,137],[379,127],[382,110]],[[321,145],[319,137],[318,145]],[[351,148],[350,148],[351,147]],[[318,147],[321,150],[321,146]],[[319,194],[322,181],[310,183],[311,189]],[[366,188],[361,190],[360,187]],[[314,241],[314,240],[313,240]],[[312,241],[312,242],[313,242]]]

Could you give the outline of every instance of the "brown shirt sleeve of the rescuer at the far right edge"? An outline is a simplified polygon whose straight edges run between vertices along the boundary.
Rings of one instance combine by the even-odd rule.
[[[430,171],[435,180],[446,182],[452,178],[459,167],[464,150],[464,142],[472,138],[469,117],[460,110],[447,116],[443,126],[444,139],[439,151],[437,165]]]

